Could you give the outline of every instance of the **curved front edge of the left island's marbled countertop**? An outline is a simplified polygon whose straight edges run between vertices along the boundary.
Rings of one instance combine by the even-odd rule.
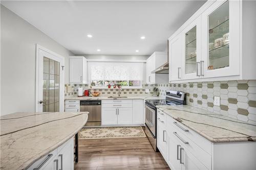
[[[80,129],[83,128],[83,126],[87,123],[88,120],[88,113],[83,113],[81,115],[87,114],[87,118],[84,120],[83,125],[76,129],[74,131],[74,133],[70,134],[69,136],[67,136],[65,139],[62,139],[60,142],[56,143],[55,145],[53,145],[53,147],[49,150],[47,150],[47,152],[41,152],[38,154],[38,156],[36,158],[31,158],[31,161],[27,161],[26,164],[23,164],[22,167],[20,167],[20,169],[28,169],[31,165],[33,165],[33,163],[35,163],[37,160],[39,160],[40,158],[44,157],[45,155],[47,155],[48,153],[54,151],[55,149],[57,149],[60,145],[62,145],[63,143],[65,143],[66,141],[68,141],[72,136],[74,136],[76,133],[78,133],[80,131]]]

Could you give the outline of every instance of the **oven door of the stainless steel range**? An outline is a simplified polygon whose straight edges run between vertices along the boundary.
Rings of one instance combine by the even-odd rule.
[[[145,103],[145,124],[156,137],[156,108],[147,103]]]

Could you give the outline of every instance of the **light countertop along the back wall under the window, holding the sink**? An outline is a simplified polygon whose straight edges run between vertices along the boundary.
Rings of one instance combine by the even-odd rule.
[[[165,97],[162,96],[143,96],[143,95],[134,95],[134,96],[127,96],[127,98],[108,98],[108,96],[67,96],[65,100],[113,100],[113,99],[143,99],[143,100],[165,100]]]

